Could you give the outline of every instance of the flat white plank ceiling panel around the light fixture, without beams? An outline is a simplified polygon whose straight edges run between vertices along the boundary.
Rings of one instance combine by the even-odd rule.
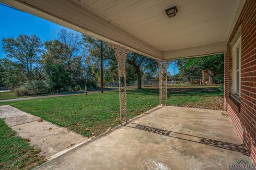
[[[162,52],[225,42],[239,0],[77,0]],[[169,18],[165,10],[177,5]]]

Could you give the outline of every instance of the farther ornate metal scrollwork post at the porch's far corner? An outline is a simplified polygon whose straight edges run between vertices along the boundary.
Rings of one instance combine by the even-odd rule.
[[[159,104],[163,104],[163,97],[167,100],[167,69],[170,61],[157,61],[159,67]]]

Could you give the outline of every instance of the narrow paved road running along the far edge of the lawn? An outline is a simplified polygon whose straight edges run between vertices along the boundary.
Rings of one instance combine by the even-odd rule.
[[[105,88],[104,90],[110,91],[113,89]],[[93,92],[100,92],[100,90],[99,89],[89,90],[89,91],[87,91],[87,94],[91,94]],[[34,97],[26,97],[26,98],[0,100],[0,103],[9,102],[9,101],[23,101],[23,100],[43,99],[43,98],[50,98],[50,97],[70,96],[70,95],[83,95],[84,93],[85,93],[84,91],[65,92],[65,93],[60,93],[60,94],[56,94],[56,95],[42,95],[42,96],[34,96]]]

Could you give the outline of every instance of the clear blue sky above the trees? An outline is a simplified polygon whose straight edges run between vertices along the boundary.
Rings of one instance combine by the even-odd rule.
[[[0,4],[0,59],[5,57],[2,48],[2,38],[17,38],[20,34],[33,35],[41,39],[42,42],[58,38],[61,29],[67,29],[61,25],[39,18],[11,7]],[[75,31],[74,31],[75,32]],[[169,72],[173,74],[174,65],[169,66]],[[175,68],[175,74],[178,68]]]

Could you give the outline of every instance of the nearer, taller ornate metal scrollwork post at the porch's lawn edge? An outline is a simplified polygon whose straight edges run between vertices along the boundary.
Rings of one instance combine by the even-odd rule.
[[[125,114],[125,122],[127,122],[127,102],[126,102],[126,70],[125,62],[127,54],[131,51],[122,46],[108,43],[108,46],[115,51],[115,57],[118,62],[119,77],[119,101],[120,101],[120,124],[123,123],[122,115]]]

